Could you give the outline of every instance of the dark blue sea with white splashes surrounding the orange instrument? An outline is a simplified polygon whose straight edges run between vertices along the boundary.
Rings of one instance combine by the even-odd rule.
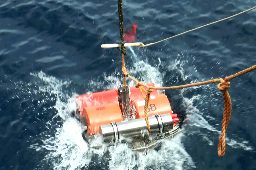
[[[255,1],[123,0],[138,42],[159,41],[239,13]],[[256,10],[147,48],[127,48],[128,72],[174,86],[224,78],[256,63]],[[126,145],[88,149],[71,116],[75,96],[122,83],[117,1],[0,0],[1,169],[256,169],[255,71],[231,80],[232,115],[220,158],[217,84],[165,90],[183,132],[146,156]],[[129,85],[135,85],[127,80]]]

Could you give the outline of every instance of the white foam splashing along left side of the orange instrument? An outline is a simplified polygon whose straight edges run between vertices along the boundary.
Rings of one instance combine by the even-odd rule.
[[[82,138],[81,123],[71,116],[77,106],[74,96],[67,96],[62,92],[63,85],[68,82],[62,82],[52,76],[47,76],[42,71],[39,73],[31,73],[31,75],[43,81],[44,85],[39,85],[38,89],[42,93],[55,95],[56,114],[52,120],[46,123],[49,131],[40,134],[42,145],[34,144],[31,148],[36,148],[38,151],[42,149],[48,150],[47,156],[44,158],[46,162],[51,162],[54,169],[77,169],[90,163],[90,152],[88,144]],[[37,90],[35,91],[37,93]],[[56,121],[55,118],[61,118]],[[56,122],[54,122],[54,120]],[[59,122],[63,122],[61,125]],[[50,135],[55,133],[54,136]],[[44,165],[42,165],[44,166]]]

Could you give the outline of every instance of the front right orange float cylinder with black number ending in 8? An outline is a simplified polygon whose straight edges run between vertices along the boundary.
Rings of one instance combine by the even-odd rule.
[[[132,100],[133,110],[135,111],[136,118],[144,118],[144,105],[145,100],[137,99]],[[147,115],[153,116],[155,114],[172,114],[172,108],[169,100],[165,94],[152,95],[150,101],[148,102]]]

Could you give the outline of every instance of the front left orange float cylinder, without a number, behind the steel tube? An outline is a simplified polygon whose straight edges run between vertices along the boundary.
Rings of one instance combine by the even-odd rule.
[[[99,133],[101,125],[123,121],[122,112],[117,103],[108,103],[83,108],[81,119],[86,118],[89,135]]]

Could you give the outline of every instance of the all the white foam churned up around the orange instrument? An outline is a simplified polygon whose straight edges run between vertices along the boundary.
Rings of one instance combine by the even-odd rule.
[[[131,75],[139,75],[139,77],[136,76],[139,81],[143,81],[144,83],[153,82],[162,85],[164,75],[158,71],[157,66],[152,67],[144,61],[135,61],[133,66],[132,69],[129,69],[129,73]],[[174,67],[175,64],[172,65],[172,68]],[[180,65],[180,67],[183,68],[183,65]],[[186,79],[187,76],[183,70],[184,69],[181,69],[182,77]],[[120,75],[117,74],[118,72],[119,71],[116,71],[116,73],[112,75],[102,75],[107,82],[107,88],[116,88],[117,85],[121,84],[121,80],[118,78],[118,76],[120,77]],[[92,162],[97,163],[96,160],[92,159],[95,154],[98,155],[99,158],[108,160],[110,169],[149,168],[181,170],[195,167],[191,156],[186,152],[181,142],[184,135],[183,132],[177,134],[173,139],[164,140],[160,150],[149,150],[146,156],[141,152],[133,152],[126,144],[119,144],[108,148],[108,156],[106,156],[106,146],[99,150],[91,149],[82,138],[81,123],[71,116],[71,112],[76,109],[76,94],[69,96],[62,90],[63,85],[68,85],[69,82],[62,82],[52,76],[47,76],[43,72],[32,73],[31,75],[43,81],[43,84],[39,85],[40,92],[55,95],[56,103],[54,108],[56,109],[56,114],[53,116],[53,119],[60,118],[61,120],[59,120],[59,122],[62,122],[61,124],[53,120],[47,122],[49,131],[45,131],[40,135],[42,144],[31,146],[31,148],[38,150],[38,152],[47,150],[48,154],[45,160],[52,164],[53,169],[73,170],[80,169],[81,167],[86,168]],[[129,85],[135,85],[134,82],[129,80],[127,83]],[[100,80],[93,80],[88,82],[88,84],[91,84],[92,88],[95,88],[95,86],[99,89],[103,88],[103,83],[100,82]],[[88,89],[88,91],[90,90],[92,89]],[[220,133],[220,131],[216,130],[205,120],[203,113],[193,105],[193,102],[199,99],[201,99],[200,95],[195,95],[191,99],[183,99],[183,105],[187,108],[187,120],[189,119],[188,126],[206,128],[208,131]],[[187,131],[186,129],[185,131],[186,133],[193,133],[193,131]],[[200,132],[196,132],[195,134],[200,134],[208,141],[209,145],[213,145],[213,142],[209,139],[207,134]],[[98,138],[96,138],[92,145],[98,145],[98,142]],[[232,147],[240,147],[245,150],[251,149],[250,146],[246,145],[246,142],[241,144],[235,140],[231,140],[230,142],[227,140],[227,143]],[[104,156],[106,156],[106,158],[104,158]]]

